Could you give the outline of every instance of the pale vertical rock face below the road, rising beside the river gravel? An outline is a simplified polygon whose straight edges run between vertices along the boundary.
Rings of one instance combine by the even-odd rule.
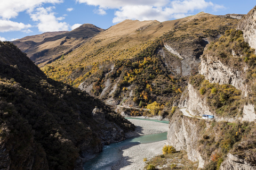
[[[201,127],[186,116],[173,116],[169,123],[167,133],[167,143],[172,145],[177,151],[186,150],[188,159],[199,162],[198,168],[203,168],[205,160],[197,148],[197,142],[201,138],[199,131]]]

